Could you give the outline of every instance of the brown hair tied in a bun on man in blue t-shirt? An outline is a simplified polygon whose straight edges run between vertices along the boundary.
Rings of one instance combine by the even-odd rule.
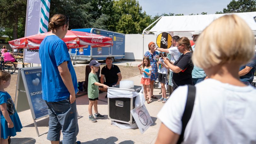
[[[54,14],[49,20],[48,27],[50,30],[58,29],[59,27],[67,24],[68,26],[68,17],[63,14]]]

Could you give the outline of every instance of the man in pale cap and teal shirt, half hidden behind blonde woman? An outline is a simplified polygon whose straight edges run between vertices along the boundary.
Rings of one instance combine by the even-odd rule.
[[[193,38],[193,42],[195,43],[195,45],[196,45],[196,40],[200,36],[201,33],[202,33],[201,30],[196,30],[195,32],[192,32],[192,38]],[[195,50],[195,45],[192,46],[193,50]],[[196,67],[194,65],[194,69],[192,71],[192,80],[193,80],[194,85],[203,81],[206,77],[207,76],[206,76],[204,70],[199,67]]]

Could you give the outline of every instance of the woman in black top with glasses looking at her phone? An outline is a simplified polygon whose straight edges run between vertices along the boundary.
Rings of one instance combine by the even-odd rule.
[[[176,43],[177,49],[183,55],[181,55],[180,58],[173,64],[168,59],[164,58],[165,64],[173,71],[173,90],[181,85],[193,85],[192,70],[194,65],[191,60],[193,50],[191,48],[189,39],[187,37],[181,37],[176,41]]]

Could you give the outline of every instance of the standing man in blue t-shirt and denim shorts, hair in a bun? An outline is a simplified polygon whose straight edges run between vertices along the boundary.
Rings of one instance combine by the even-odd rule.
[[[49,113],[49,132],[51,143],[76,142],[78,121],[76,112],[76,93],[78,92],[76,73],[73,68],[64,38],[68,30],[68,17],[55,14],[49,21],[50,35],[45,37],[39,47],[42,64],[42,91]]]

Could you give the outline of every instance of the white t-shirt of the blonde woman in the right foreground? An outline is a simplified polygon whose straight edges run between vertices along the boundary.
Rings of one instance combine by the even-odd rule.
[[[256,143],[256,89],[206,79],[195,85],[196,96],[183,144]],[[178,87],[158,113],[174,133],[181,134],[187,86]]]

